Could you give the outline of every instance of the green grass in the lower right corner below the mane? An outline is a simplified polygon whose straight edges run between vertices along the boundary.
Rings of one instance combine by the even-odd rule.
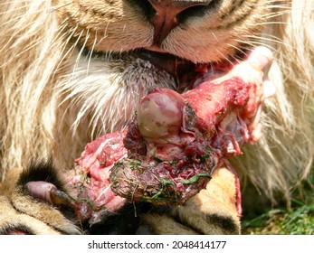
[[[257,217],[243,220],[243,234],[314,235],[314,176],[306,197],[292,199],[291,208],[272,209]],[[295,194],[298,196],[298,194]],[[300,201],[302,200],[302,201]]]

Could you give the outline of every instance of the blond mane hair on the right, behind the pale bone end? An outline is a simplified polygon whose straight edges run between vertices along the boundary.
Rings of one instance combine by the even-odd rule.
[[[269,78],[275,98],[266,100],[263,135],[233,161],[244,178],[275,202],[274,192],[290,192],[307,179],[313,162],[314,3],[277,1],[261,44],[274,53]],[[305,25],[306,24],[306,25]]]

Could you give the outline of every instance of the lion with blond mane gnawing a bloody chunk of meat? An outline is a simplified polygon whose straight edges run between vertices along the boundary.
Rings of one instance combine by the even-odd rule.
[[[241,233],[237,176],[227,168],[183,206],[139,206],[134,215],[132,205],[128,231],[128,211],[85,230],[25,187],[43,180],[66,191],[59,170],[84,145],[126,127],[150,89],[176,88],[170,63],[151,52],[196,64],[271,50],[276,93],[263,105],[261,139],[228,163],[244,210],[282,197],[289,205],[314,152],[313,11],[306,0],[0,0],[0,232]],[[42,158],[52,162],[31,163]]]

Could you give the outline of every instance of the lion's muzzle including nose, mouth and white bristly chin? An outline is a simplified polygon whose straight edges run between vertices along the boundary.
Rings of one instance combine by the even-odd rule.
[[[148,90],[177,89],[191,65],[238,61],[257,45],[270,4],[59,0],[55,5],[64,51],[74,50],[61,84],[65,99],[79,110],[74,128],[90,117],[91,131],[103,133],[126,126]]]

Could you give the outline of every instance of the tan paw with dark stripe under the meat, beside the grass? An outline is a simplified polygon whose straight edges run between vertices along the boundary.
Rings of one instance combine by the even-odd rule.
[[[240,234],[234,180],[228,169],[218,169],[207,188],[174,208],[171,217],[147,214],[144,220],[157,234]]]

